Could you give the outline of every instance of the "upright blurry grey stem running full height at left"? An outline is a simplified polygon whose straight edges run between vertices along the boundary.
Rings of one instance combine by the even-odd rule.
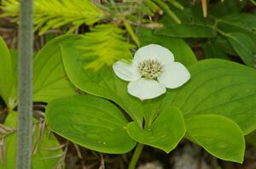
[[[16,168],[31,168],[32,152],[32,0],[20,1],[18,128]]]

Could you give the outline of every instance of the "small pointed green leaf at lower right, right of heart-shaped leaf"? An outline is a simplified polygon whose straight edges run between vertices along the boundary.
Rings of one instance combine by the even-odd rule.
[[[224,161],[242,163],[245,140],[241,128],[222,115],[195,115],[185,119],[187,134],[196,144]]]

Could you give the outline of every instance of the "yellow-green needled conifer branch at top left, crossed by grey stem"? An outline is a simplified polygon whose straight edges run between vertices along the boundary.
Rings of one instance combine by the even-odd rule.
[[[20,14],[20,0],[3,0],[3,16],[15,17]],[[34,30],[39,34],[62,25],[72,24],[69,31],[80,25],[92,25],[104,17],[104,12],[90,0],[35,0]]]

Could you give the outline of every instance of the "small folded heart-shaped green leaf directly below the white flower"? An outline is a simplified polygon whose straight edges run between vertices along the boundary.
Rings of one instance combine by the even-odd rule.
[[[183,138],[186,129],[180,110],[166,106],[150,127],[143,129],[133,121],[128,124],[127,132],[137,142],[163,149],[169,153]]]

